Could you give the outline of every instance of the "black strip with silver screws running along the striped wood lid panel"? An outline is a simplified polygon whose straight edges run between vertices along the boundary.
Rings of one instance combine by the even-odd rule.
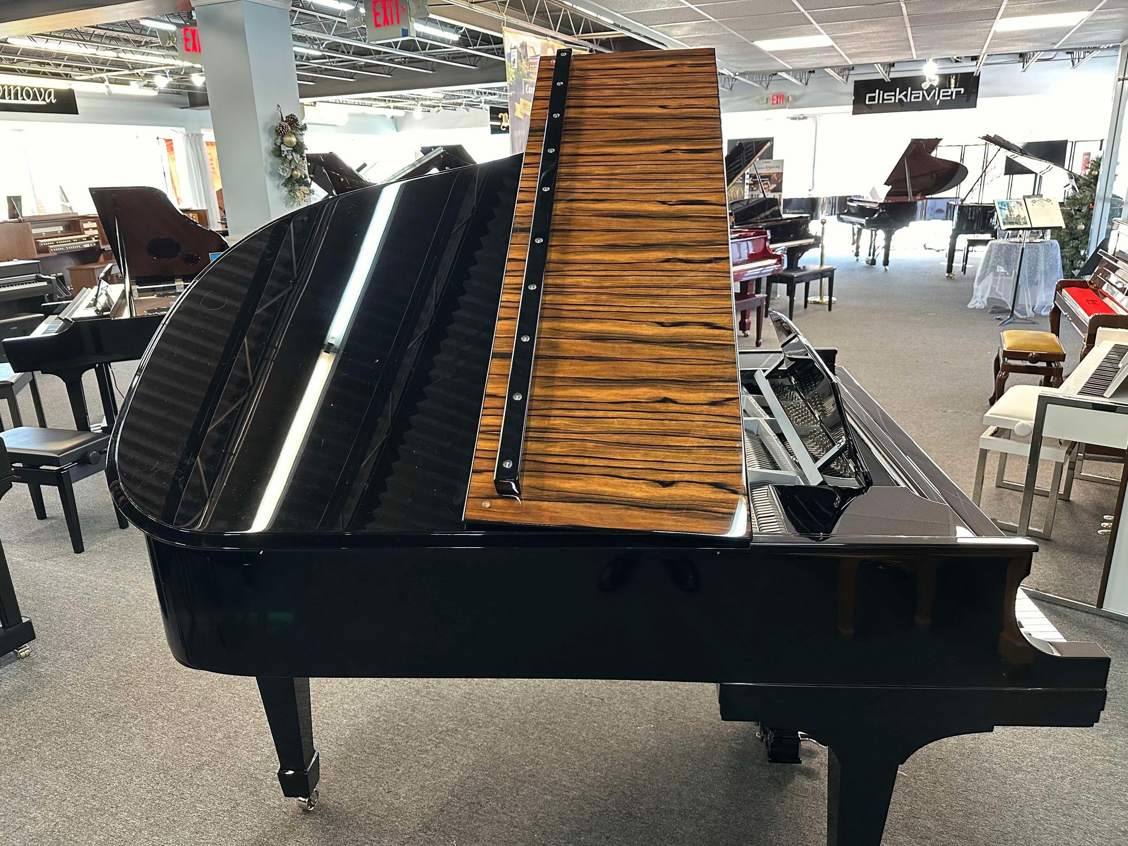
[[[537,195],[532,202],[532,224],[529,227],[529,248],[521,280],[521,302],[517,311],[517,331],[513,334],[513,354],[505,388],[505,409],[502,415],[501,435],[497,439],[497,461],[494,465],[494,487],[502,496],[521,495],[521,448],[525,443],[525,424],[532,385],[532,359],[540,321],[540,300],[545,288],[545,267],[548,263],[548,236],[553,222],[553,201],[556,194],[556,174],[559,164],[561,139],[564,134],[564,106],[567,103],[569,70],[572,51],[556,51],[553,88],[548,95],[548,117],[540,148],[540,171],[537,176]]]

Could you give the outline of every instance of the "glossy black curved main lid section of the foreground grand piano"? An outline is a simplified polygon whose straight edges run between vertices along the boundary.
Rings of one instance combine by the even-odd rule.
[[[209,265],[115,429],[131,519],[193,536],[461,529],[520,164],[329,197]]]

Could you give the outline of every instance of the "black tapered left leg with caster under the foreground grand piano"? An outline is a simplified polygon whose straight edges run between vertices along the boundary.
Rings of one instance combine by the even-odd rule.
[[[258,693],[279,756],[282,795],[305,800],[306,809],[312,810],[320,765],[314,748],[309,679],[259,677]]]

